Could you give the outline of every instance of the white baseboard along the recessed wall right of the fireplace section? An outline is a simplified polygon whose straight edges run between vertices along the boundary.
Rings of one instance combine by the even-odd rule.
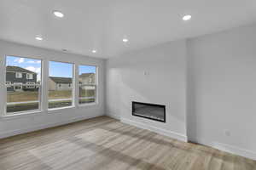
[[[244,149],[241,149],[237,146],[230,145],[230,144],[223,144],[223,143],[219,143],[219,142],[209,142],[204,139],[198,140],[198,143],[211,146],[212,148],[215,148],[217,150],[223,150],[223,151],[229,152],[230,154],[247,157],[249,159],[256,161],[256,153],[251,150],[244,150]]]

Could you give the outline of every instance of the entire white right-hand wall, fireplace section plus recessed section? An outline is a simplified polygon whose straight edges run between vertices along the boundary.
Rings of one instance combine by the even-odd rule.
[[[108,115],[256,160],[255,44],[256,24],[108,59]],[[132,100],[166,105],[166,123],[131,116]]]

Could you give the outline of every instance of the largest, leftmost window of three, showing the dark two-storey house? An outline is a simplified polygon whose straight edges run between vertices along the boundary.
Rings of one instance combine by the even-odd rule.
[[[35,80],[27,84],[22,73],[36,74]],[[41,60],[6,56],[6,115],[40,109]],[[32,85],[31,87],[28,85]]]

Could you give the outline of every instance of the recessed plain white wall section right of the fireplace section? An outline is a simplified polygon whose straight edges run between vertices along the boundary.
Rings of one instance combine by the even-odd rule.
[[[188,49],[189,139],[256,159],[256,25],[192,38]]]

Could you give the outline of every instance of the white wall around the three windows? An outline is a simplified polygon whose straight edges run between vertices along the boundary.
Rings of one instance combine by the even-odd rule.
[[[67,122],[74,122],[90,117],[102,116],[105,111],[104,104],[104,71],[105,71],[105,60],[95,59],[75,54],[64,54],[53,50],[47,50],[43,48],[34,48],[26,45],[20,45],[12,42],[0,41],[0,115],[3,115],[6,101],[6,89],[5,89],[5,55],[14,55],[20,57],[32,57],[43,59],[43,67],[48,68],[48,61],[64,61],[71,62],[76,65],[97,65],[98,66],[98,104],[90,106],[77,106],[76,108],[47,111],[47,99],[43,100],[44,111],[27,114],[22,116],[9,116],[0,117],[0,138],[14,135],[16,133],[25,133],[39,128],[51,127]],[[78,74],[78,71],[76,71]],[[43,95],[47,96],[47,81],[48,80],[48,69],[45,69],[43,73]],[[78,85],[78,84],[77,84]],[[78,88],[76,88],[78,89]],[[78,95],[78,91],[75,92]]]

